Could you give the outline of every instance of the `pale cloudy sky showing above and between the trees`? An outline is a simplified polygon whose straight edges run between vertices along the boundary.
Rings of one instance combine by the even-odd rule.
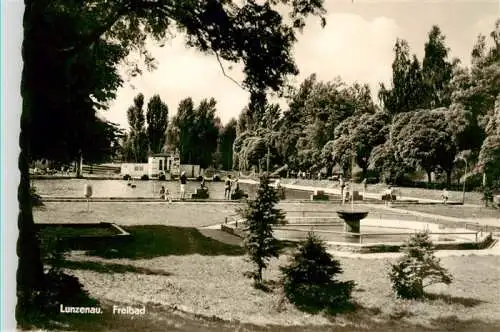
[[[488,35],[500,17],[500,0],[325,0],[325,8],[326,27],[312,17],[298,35],[294,56],[300,74],[294,84],[313,73],[322,81],[340,76],[347,83],[368,83],[374,96],[380,82],[387,85],[391,80],[396,38],[407,40],[421,60],[427,34],[438,25],[450,56],[469,65],[477,35]],[[128,129],[126,111],[138,93],[146,102],[159,94],[169,116],[184,98],[192,97],[198,104],[214,97],[223,123],[237,118],[247,105],[249,94],[223,75],[214,56],[186,48],[183,35],[172,37],[164,47],[153,45],[150,51],[157,69],[128,80],[118,90],[109,110],[102,113],[108,120]],[[241,82],[241,67],[228,67],[225,64],[226,73]]]

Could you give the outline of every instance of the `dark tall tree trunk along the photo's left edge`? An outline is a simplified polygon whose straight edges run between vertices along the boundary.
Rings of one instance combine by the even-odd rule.
[[[35,232],[33,211],[30,195],[29,159],[30,159],[30,133],[29,122],[33,106],[36,105],[34,96],[33,80],[33,58],[37,56],[36,45],[33,38],[34,28],[32,27],[33,4],[32,1],[25,1],[25,13],[23,18],[24,41],[23,41],[23,73],[21,81],[21,95],[23,98],[23,109],[21,114],[21,134],[19,145],[21,153],[19,155],[19,171],[21,181],[18,189],[19,216],[17,220],[19,237],[17,239],[17,306],[16,318],[26,317],[26,314],[33,309],[33,300],[39,291],[44,289],[43,265],[40,257],[40,247]],[[36,15],[36,13],[35,13]],[[41,308],[39,308],[41,309]]]

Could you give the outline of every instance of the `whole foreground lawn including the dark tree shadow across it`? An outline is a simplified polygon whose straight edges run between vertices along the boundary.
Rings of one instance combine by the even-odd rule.
[[[446,257],[450,286],[428,289],[424,301],[396,299],[387,278],[391,260],[340,258],[343,279],[357,284],[353,309],[308,314],[288,303],[276,282],[289,250],[264,273],[272,292],[255,290],[243,273],[251,265],[238,244],[217,231],[129,226],[135,241],[90,255],[73,253],[64,268],[97,299],[105,314],[62,317],[79,331],[494,331],[500,329],[500,257]],[[221,233],[222,234],[222,233]],[[227,237],[227,235],[220,235]],[[222,240],[222,238],[221,238]],[[113,258],[111,258],[113,257]],[[141,317],[111,314],[111,305],[146,306]],[[86,316],[88,318],[88,316]],[[325,325],[329,325],[328,328]],[[330,328],[332,327],[332,328]],[[49,329],[53,330],[55,328]]]

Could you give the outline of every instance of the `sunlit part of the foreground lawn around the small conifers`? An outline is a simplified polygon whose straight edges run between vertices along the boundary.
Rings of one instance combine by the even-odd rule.
[[[71,259],[82,266],[91,260],[94,266],[126,264],[139,269],[138,272],[116,273],[74,266],[69,272],[100,301],[146,305],[148,314],[145,319],[152,324],[152,329],[147,329],[153,331],[155,326],[158,327],[160,317],[172,315],[155,312],[158,306],[175,308],[177,313],[190,312],[211,318],[204,324],[221,319],[224,322],[217,325],[221,330],[227,327],[227,322],[243,324],[242,330],[245,326],[259,330],[245,325],[256,324],[280,331],[324,331],[324,325],[336,326],[333,331],[494,331],[500,328],[497,318],[500,299],[496,291],[500,286],[499,257],[442,259],[452,272],[454,283],[450,286],[435,285],[428,290],[428,298],[424,301],[394,297],[386,274],[389,261],[342,258],[343,278],[357,283],[353,293],[355,308],[336,316],[303,313],[284,301],[279,288],[271,293],[255,290],[251,281],[243,277],[243,272],[250,268],[244,256],[187,255],[150,260],[75,256]],[[272,260],[265,278],[277,281],[280,277],[278,268],[286,264],[287,259],[282,256],[279,260]],[[140,269],[152,268],[158,272],[140,272]],[[236,326],[240,327],[239,324]]]

